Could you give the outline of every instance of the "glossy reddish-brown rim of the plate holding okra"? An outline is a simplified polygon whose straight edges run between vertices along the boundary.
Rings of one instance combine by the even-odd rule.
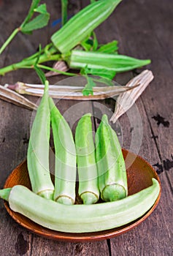
[[[142,215],[142,217],[139,217],[138,219],[134,220],[133,222],[129,222],[126,225],[120,226],[120,227],[115,227],[116,230],[114,229],[110,229],[110,230],[101,230],[101,231],[97,231],[97,232],[93,232],[93,233],[64,233],[64,232],[60,232],[60,231],[55,231],[55,230],[50,230],[50,233],[43,233],[40,230],[35,230],[33,227],[30,227],[29,225],[26,225],[23,222],[20,222],[20,220],[18,219],[18,217],[15,217],[14,211],[12,211],[9,208],[9,203],[7,201],[4,200],[4,207],[6,208],[8,214],[10,217],[12,217],[12,219],[15,220],[15,222],[17,222],[19,225],[21,225],[22,227],[26,228],[26,230],[31,231],[31,233],[36,234],[37,236],[42,236],[51,240],[56,240],[56,241],[69,241],[69,242],[83,242],[83,241],[101,241],[101,240],[105,240],[105,239],[109,239],[109,238],[113,238],[115,236],[120,236],[123,233],[126,233],[128,231],[130,231],[131,229],[133,229],[134,227],[137,227],[140,223],[142,223],[145,219],[147,219],[147,217],[150,216],[150,214],[155,210],[156,206],[158,206],[158,202],[161,198],[161,181],[160,178],[158,177],[158,173],[156,173],[155,169],[153,168],[152,165],[150,165],[149,162],[147,162],[144,158],[142,158],[141,156],[134,154],[131,151],[128,151],[125,148],[122,148],[122,151],[124,151],[126,154],[133,154],[134,156],[138,157],[140,160],[142,160],[142,162],[145,162],[146,165],[148,165],[150,167],[150,169],[153,171],[153,173],[155,174],[156,179],[158,180],[159,186],[160,186],[160,192],[159,195],[157,197],[157,199],[155,200],[154,205],[150,208],[150,210],[148,210],[144,215]],[[4,184],[4,188],[8,187],[8,183],[9,180],[12,176],[13,173],[15,173],[16,169],[20,168],[20,166],[22,166],[24,163],[26,163],[26,159],[21,162],[17,167],[15,167],[14,170],[12,170],[12,172],[9,174],[9,176],[7,177],[7,180],[5,181]],[[16,213],[15,213],[16,214]],[[19,213],[17,213],[19,214]],[[20,214],[22,217],[24,217],[22,214]],[[27,217],[24,217],[25,219],[28,219]],[[33,222],[31,219],[28,219],[29,222]],[[42,227],[41,225],[33,222],[34,224],[38,225],[39,227]],[[122,227],[122,228],[121,228]],[[46,230],[49,231],[48,228],[46,227],[42,227]],[[119,229],[119,230],[117,230]],[[53,232],[57,232],[57,235],[51,233],[51,231]],[[70,236],[68,236],[68,234]],[[85,236],[82,236],[82,234],[85,234]],[[72,236],[71,236],[72,235]]]

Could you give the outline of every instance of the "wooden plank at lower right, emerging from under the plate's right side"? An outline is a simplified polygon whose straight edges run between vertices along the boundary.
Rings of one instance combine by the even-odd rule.
[[[145,113],[142,101],[137,101],[139,112],[142,116],[143,136],[142,145],[140,147],[139,155],[144,157],[148,162],[152,163],[158,159],[158,151],[155,147],[155,143],[151,140],[152,132],[148,127],[147,116]],[[134,116],[135,122],[135,116]],[[127,126],[127,116],[120,118],[120,124],[124,128],[124,144],[129,146],[129,138],[131,138],[130,127]],[[135,129],[132,131],[134,132]],[[162,183],[162,196],[153,214],[142,222],[134,230],[129,231],[123,236],[111,239],[111,252],[112,255],[117,255],[118,249],[120,249],[121,255],[169,255],[172,248],[168,243],[171,238],[171,218],[169,214],[172,208],[172,194],[168,189],[168,182],[166,178],[161,177]],[[163,230],[165,232],[163,233]],[[162,241],[162,242],[161,242]],[[167,242],[166,242],[167,241]]]

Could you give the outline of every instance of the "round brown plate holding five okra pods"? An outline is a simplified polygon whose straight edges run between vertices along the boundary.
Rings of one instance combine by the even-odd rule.
[[[142,189],[145,189],[146,187],[149,187],[152,184],[152,178],[156,178],[159,181],[158,175],[157,173],[155,173],[153,167],[144,159],[142,159],[142,157],[126,151],[125,149],[123,149],[123,156],[126,159],[127,166],[128,195],[132,195]],[[16,184],[22,184],[28,188],[31,188],[26,161],[21,163],[18,167],[15,168],[15,170],[12,171],[12,173],[7,178],[4,187],[13,187]],[[93,233],[62,233],[54,230],[49,230],[36,224],[35,222],[32,222],[30,219],[24,217],[23,215],[15,213],[9,208],[9,204],[7,202],[4,202],[4,206],[7,209],[9,215],[13,219],[15,219],[16,222],[39,236],[44,236],[46,238],[59,241],[99,241],[102,239],[119,236],[120,234],[125,233],[128,230],[131,230],[132,228],[139,225],[139,223],[143,222],[153,212],[158,204],[160,197],[161,192],[153,207],[150,208],[150,210],[147,211],[145,215],[143,215],[139,219],[136,219],[134,222],[111,230],[104,230]]]

